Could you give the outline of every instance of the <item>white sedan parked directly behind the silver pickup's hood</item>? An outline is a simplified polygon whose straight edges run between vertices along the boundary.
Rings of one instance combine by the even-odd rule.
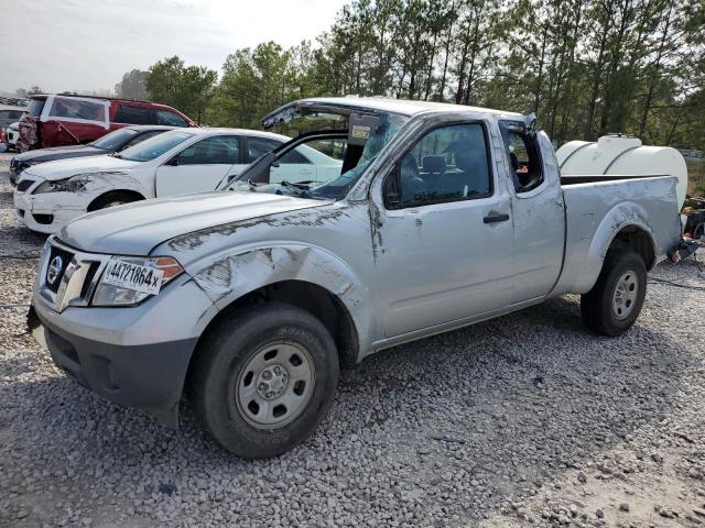
[[[239,129],[165,132],[119,154],[61,160],[26,168],[14,190],[14,216],[55,233],[86,212],[147,198],[215,190],[285,135]],[[341,162],[301,145],[282,158],[272,183],[329,179]]]

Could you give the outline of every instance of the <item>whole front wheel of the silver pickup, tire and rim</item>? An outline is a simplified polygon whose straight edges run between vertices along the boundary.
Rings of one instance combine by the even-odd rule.
[[[318,319],[294,306],[236,311],[209,330],[196,354],[189,378],[196,417],[238,457],[274,457],[299,444],[335,396],[335,342]]]

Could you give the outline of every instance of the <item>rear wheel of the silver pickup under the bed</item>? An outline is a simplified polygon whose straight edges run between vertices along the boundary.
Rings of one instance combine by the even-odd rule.
[[[626,282],[621,282],[625,277]],[[630,292],[631,285],[637,292]],[[639,317],[646,295],[647,268],[641,256],[633,251],[610,250],[605,256],[597,283],[581,297],[583,321],[590,330],[603,336],[621,336]],[[625,296],[631,297],[625,300]],[[621,305],[617,306],[619,301]]]

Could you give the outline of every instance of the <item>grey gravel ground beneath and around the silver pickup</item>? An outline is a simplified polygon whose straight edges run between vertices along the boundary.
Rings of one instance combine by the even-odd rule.
[[[0,526],[705,524],[705,275],[662,264],[634,328],[588,334],[577,297],[400,346],[344,373],[279,459],[101,400],[25,333],[43,238],[0,156]],[[701,252],[702,253],[702,252]],[[701,256],[701,260],[703,256]],[[699,289],[697,289],[699,288]]]

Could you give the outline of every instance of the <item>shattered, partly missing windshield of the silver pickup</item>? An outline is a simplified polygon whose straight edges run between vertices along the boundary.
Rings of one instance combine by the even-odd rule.
[[[357,184],[365,169],[377,158],[384,146],[397,135],[403,124],[409,121],[405,116],[380,113],[379,123],[359,152],[359,146],[348,145],[345,139],[316,140],[300,144],[295,151],[284,154],[272,165],[269,183],[257,184],[248,178],[248,172],[231,187],[237,191],[257,191],[276,195],[291,195],[301,198],[341,200],[352,186]],[[296,141],[296,140],[292,140]],[[357,154],[355,152],[357,148]],[[293,152],[307,157],[308,165],[300,164],[295,169],[288,165],[286,158]],[[315,155],[314,155],[315,154]],[[358,157],[359,156],[359,157]],[[357,158],[357,162],[355,162]],[[341,173],[345,161],[355,165]],[[312,176],[308,176],[312,175]],[[315,176],[313,176],[315,175]]]

